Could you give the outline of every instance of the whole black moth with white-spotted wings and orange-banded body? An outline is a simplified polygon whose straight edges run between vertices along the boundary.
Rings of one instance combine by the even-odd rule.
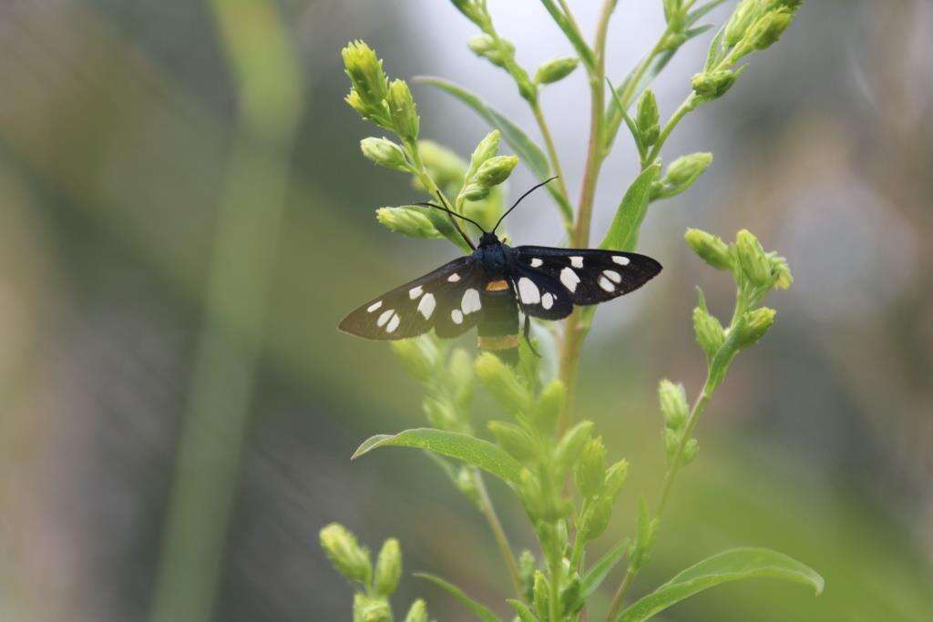
[[[512,248],[496,238],[495,229],[502,219],[544,184],[516,200],[492,231],[434,203],[419,203],[480,228],[480,245],[461,231],[474,249],[471,255],[457,257],[369,300],[343,318],[340,329],[365,339],[387,340],[409,339],[434,328],[439,338],[452,339],[477,326],[480,349],[514,364],[518,360],[520,309],[527,339],[530,318],[560,320],[574,305],[595,305],[628,294],[661,271],[657,261],[635,253],[550,246]]]

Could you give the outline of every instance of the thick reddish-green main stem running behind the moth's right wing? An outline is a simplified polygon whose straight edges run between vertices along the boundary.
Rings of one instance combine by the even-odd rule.
[[[583,173],[583,186],[577,208],[577,220],[570,235],[570,246],[583,248],[590,242],[590,224],[592,221],[592,201],[596,194],[596,183],[603,164],[603,110],[606,106],[606,32],[609,18],[616,7],[616,0],[605,0],[593,44],[594,66],[590,71],[590,145],[587,150],[586,168]],[[581,311],[574,311],[564,322],[564,342],[561,346],[560,379],[566,387],[566,400],[558,418],[558,434],[562,434],[571,422],[574,390],[577,382],[580,348],[586,337],[587,329],[581,327]]]

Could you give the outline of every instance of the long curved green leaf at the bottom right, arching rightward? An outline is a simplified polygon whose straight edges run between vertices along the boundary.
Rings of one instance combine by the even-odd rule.
[[[623,611],[617,622],[640,622],[667,609],[676,602],[727,581],[772,577],[795,581],[823,591],[823,577],[800,561],[767,548],[733,548],[700,563],[658,587],[648,596],[635,601]]]

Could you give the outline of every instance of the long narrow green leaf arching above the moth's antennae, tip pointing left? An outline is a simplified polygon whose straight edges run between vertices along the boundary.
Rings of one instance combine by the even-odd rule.
[[[472,108],[474,112],[484,118],[494,129],[502,132],[502,137],[506,139],[508,145],[512,147],[519,158],[522,159],[522,162],[535,174],[539,181],[543,182],[551,176],[548,157],[544,154],[544,151],[541,150],[541,147],[528,138],[528,135],[522,131],[522,128],[483,102],[479,95],[454,84],[450,80],[445,80],[442,77],[415,76],[412,79],[415,82],[437,87],[453,95],[453,97]],[[570,203],[567,202],[560,191],[556,187],[550,186],[550,184],[546,186],[546,188],[548,192],[550,192],[550,196],[557,202],[557,207],[564,216],[564,220],[573,220],[573,207],[570,206]]]

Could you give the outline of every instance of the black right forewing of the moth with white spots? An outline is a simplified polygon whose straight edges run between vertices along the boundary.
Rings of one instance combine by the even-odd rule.
[[[556,280],[575,305],[594,305],[628,294],[661,272],[661,264],[651,257],[592,248],[518,246],[514,263],[515,270],[531,270]]]

